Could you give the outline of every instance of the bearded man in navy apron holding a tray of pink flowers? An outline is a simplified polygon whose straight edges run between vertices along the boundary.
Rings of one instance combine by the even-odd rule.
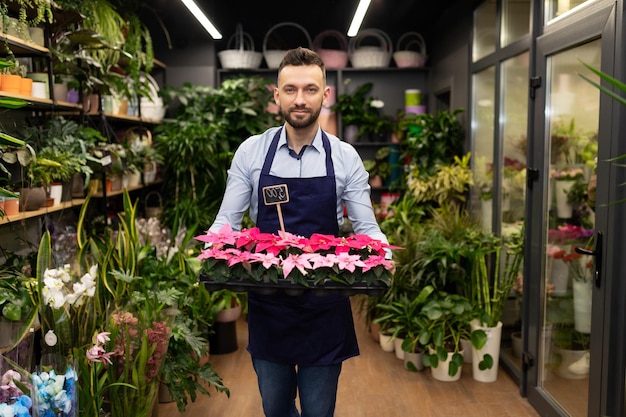
[[[220,211],[210,230],[239,228],[244,212],[262,232],[280,229],[276,205],[264,187],[286,184],[281,204],[285,230],[302,236],[337,236],[343,207],[355,233],[387,242],[371,205],[369,175],[356,150],[321,130],[318,116],[329,99],[326,71],[306,48],[287,51],[278,68],[274,100],[282,127],[244,141],[228,171]],[[331,417],[342,361],[359,354],[348,297],[304,292],[248,295],[248,351],[266,417]]]

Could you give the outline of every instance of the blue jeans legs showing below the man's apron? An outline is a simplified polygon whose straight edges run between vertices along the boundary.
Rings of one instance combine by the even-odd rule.
[[[252,358],[265,417],[333,417],[341,363],[295,366]],[[302,414],[296,408],[300,396]]]

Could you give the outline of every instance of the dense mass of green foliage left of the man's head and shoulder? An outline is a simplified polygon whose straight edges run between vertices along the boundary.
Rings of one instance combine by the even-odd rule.
[[[211,224],[226,188],[226,171],[238,145],[275,124],[264,111],[272,99],[261,77],[226,80],[220,88],[192,86],[163,90],[166,104],[178,102],[174,117],[155,129],[164,165],[166,224]]]

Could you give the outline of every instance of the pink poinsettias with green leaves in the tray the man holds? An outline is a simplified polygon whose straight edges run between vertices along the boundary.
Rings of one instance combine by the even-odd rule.
[[[393,263],[385,254],[396,248],[362,234],[305,238],[289,232],[261,233],[258,228],[234,231],[230,225],[196,239],[209,244],[198,259],[205,260],[204,271],[216,282],[288,280],[306,287],[327,280],[389,285]]]

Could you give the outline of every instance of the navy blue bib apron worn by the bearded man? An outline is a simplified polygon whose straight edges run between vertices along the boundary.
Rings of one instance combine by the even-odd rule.
[[[289,202],[281,205],[285,230],[309,237],[337,236],[337,196],[330,141],[322,132],[326,176],[280,178],[270,175],[278,148],[279,129],[265,157],[259,178],[257,227],[264,233],[280,230],[277,208],[263,204],[263,187],[287,184]],[[294,159],[295,161],[295,159]],[[259,359],[298,365],[329,365],[359,354],[350,300],[341,295],[248,294],[248,351]]]

